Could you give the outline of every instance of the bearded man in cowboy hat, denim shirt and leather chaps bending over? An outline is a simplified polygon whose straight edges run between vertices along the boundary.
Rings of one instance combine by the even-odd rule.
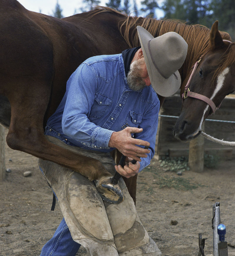
[[[102,156],[108,156],[110,151],[118,149],[126,156],[126,164],[124,167],[115,165],[115,170],[126,178],[138,174],[150,164],[154,155],[160,108],[156,93],[170,96],[180,88],[181,78],[178,69],[182,66],[187,54],[186,42],[175,32],[153,38],[144,28],[138,26],[137,30],[141,48],[128,49],[118,55],[92,57],[77,68],[69,78],[65,96],[56,112],[49,118],[45,131],[50,138],[51,136],[55,137],[67,147],[76,147],[80,152],[91,150],[94,155],[102,153]],[[148,147],[148,149],[144,147]],[[131,162],[133,159],[136,160],[135,164]],[[41,161],[40,166],[44,173],[46,172],[47,178],[47,169],[52,169],[54,165],[49,167]],[[55,171],[56,168],[54,168]],[[81,179],[83,177],[77,178],[77,180]],[[86,181],[84,182],[86,183]],[[120,182],[122,183],[122,181]],[[58,183],[60,182],[56,181],[56,185]],[[77,185],[76,191],[85,183]],[[55,188],[52,186],[55,193],[56,185]],[[93,184],[87,186],[90,186],[89,190],[93,191]],[[136,216],[123,183],[121,187],[125,191],[124,202],[115,208],[111,204],[105,204],[113,237],[111,235],[109,239],[104,238],[106,242],[108,241],[104,251],[95,251],[95,253],[102,256],[145,255],[147,253],[161,255]],[[75,193],[74,189],[72,191],[70,192],[71,198]],[[89,197],[89,193],[85,197]],[[60,202],[60,199],[58,201]],[[64,207],[62,204],[60,203],[65,217],[68,207]],[[79,207],[87,207],[87,204],[89,204],[88,201],[79,204]],[[129,206],[130,212],[121,221],[122,215],[126,214],[126,209]],[[102,206],[100,207],[102,208]],[[78,210],[72,210],[72,214],[76,215],[75,211]],[[79,250],[79,243],[85,241],[83,240],[84,233],[89,236],[89,232],[84,232],[86,230],[84,227],[89,220],[83,220],[82,214],[77,213],[80,223],[78,226],[83,232],[81,236],[78,235],[79,238],[74,238],[77,236],[76,232],[80,232],[76,231],[72,238],[70,232],[73,232],[71,231],[73,225],[69,225],[69,223],[70,219],[74,217],[68,217],[71,212],[66,215],[66,221],[62,220],[54,236],[43,247],[42,256],[75,255]],[[86,210],[83,214],[89,215],[89,211]],[[128,228],[120,227],[122,225],[117,224],[119,215],[120,221],[125,222],[126,220],[127,223],[131,223],[132,215],[135,215],[133,225],[131,224]],[[78,218],[77,216],[76,218]],[[102,221],[101,218],[100,221]],[[70,230],[66,223],[70,226]],[[104,225],[100,226],[103,228]],[[119,229],[121,231],[116,231]],[[110,230],[103,232],[108,234]],[[138,235],[134,234],[132,237],[128,233],[130,230],[132,230],[131,234],[134,233],[133,230],[138,230]],[[140,237],[141,231],[143,231],[142,237]],[[97,237],[94,238],[95,235],[92,237],[95,243],[99,243],[99,246],[102,245],[103,238],[99,238],[97,242]],[[123,241],[126,241],[126,244]],[[88,242],[84,244],[87,245]],[[109,252],[106,250],[108,247]],[[89,248],[89,245],[86,248]],[[90,253],[92,254],[92,250]]]

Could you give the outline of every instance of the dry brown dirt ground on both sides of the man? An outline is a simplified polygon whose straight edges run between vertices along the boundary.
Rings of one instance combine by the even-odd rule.
[[[182,160],[182,159],[181,159]],[[178,159],[178,167],[185,164]],[[170,171],[156,159],[138,177],[136,209],[163,256],[197,256],[198,234],[208,238],[205,255],[212,254],[212,204],[220,202],[221,221],[227,227],[228,255],[235,255],[235,159],[201,174]],[[37,159],[6,146],[6,180],[0,183],[0,255],[40,255],[62,219]],[[177,169],[177,168],[176,168]],[[24,177],[26,171],[32,172]],[[172,225],[177,224],[177,225]],[[88,255],[82,248],[78,255]],[[101,255],[102,256],[102,255]],[[111,255],[110,255],[111,256]]]

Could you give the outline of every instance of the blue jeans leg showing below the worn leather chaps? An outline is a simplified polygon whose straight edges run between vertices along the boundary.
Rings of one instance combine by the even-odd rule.
[[[73,241],[63,218],[53,237],[44,245],[41,256],[75,256],[80,244]]]

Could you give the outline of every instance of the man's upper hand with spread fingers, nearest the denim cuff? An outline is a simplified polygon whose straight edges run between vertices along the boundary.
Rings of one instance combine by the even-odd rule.
[[[136,161],[141,161],[140,158],[146,158],[146,154],[150,153],[150,150],[139,147],[137,145],[149,147],[150,143],[147,141],[132,138],[131,133],[140,133],[142,131],[142,128],[136,127],[126,127],[122,131],[114,131],[109,140],[109,147],[115,147],[124,156],[130,157]]]

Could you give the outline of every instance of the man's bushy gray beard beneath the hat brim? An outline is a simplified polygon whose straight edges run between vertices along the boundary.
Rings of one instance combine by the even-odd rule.
[[[140,77],[141,64],[143,61],[134,60],[130,64],[130,71],[127,74],[128,86],[133,91],[139,91],[146,87],[145,82]]]

